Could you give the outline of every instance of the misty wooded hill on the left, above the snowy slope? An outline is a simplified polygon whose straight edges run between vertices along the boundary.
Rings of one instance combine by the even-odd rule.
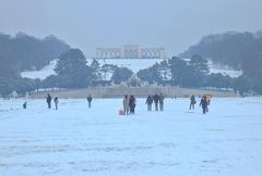
[[[55,36],[38,39],[23,33],[14,37],[0,34],[0,64],[8,60],[17,72],[40,70],[69,49]]]

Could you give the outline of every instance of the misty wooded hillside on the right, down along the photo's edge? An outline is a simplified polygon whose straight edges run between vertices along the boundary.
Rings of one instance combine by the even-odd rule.
[[[262,32],[210,35],[181,56],[190,58],[192,54],[241,70],[243,75],[235,85],[246,84],[246,90],[262,93]]]

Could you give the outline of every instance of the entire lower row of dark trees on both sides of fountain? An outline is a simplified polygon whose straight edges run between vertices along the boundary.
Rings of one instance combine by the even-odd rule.
[[[0,64],[0,93],[4,97],[16,90],[20,95],[38,90],[40,88],[86,88],[98,84],[129,83],[130,86],[141,86],[142,83],[174,85],[187,88],[224,88],[234,89],[241,95],[254,91],[262,93],[260,79],[250,78],[243,74],[238,78],[231,78],[222,74],[210,74],[207,61],[200,55],[193,55],[190,60],[174,56],[164,60],[148,68],[141,70],[136,74],[127,67],[118,67],[111,64],[100,65],[93,60],[87,64],[86,58],[79,49],[70,49],[59,56],[55,68],[56,75],[44,80],[21,78],[12,70],[8,62]],[[3,76],[3,75],[9,76]],[[131,79],[135,75],[141,81]],[[134,77],[134,76],[133,76]]]

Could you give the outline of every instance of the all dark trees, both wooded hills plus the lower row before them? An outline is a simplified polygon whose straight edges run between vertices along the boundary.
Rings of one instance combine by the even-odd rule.
[[[261,36],[259,33],[207,36],[198,46],[191,47],[182,54],[188,60],[174,56],[134,74],[127,67],[112,64],[100,65],[96,60],[87,63],[81,50],[69,49],[55,37],[39,40],[22,34],[14,38],[0,35],[0,95],[5,97],[15,90],[23,96],[43,88],[86,88],[122,83],[127,86],[157,84],[186,88],[234,89],[240,95],[262,95],[262,54],[259,54],[262,53],[259,52],[262,43]],[[7,41],[10,45],[7,45]],[[40,43],[49,46],[47,47],[49,49],[43,49],[39,47],[43,46]],[[16,47],[11,47],[13,49],[9,50],[7,46]],[[20,71],[40,68],[55,58],[58,58],[56,75],[44,80],[21,78]],[[238,78],[210,74],[205,58],[216,63],[241,68],[243,74]]]

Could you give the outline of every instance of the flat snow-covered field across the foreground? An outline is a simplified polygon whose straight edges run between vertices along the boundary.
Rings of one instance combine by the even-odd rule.
[[[0,100],[1,176],[261,176],[262,100],[212,99],[210,113],[188,99],[165,112],[119,116],[121,99]]]

